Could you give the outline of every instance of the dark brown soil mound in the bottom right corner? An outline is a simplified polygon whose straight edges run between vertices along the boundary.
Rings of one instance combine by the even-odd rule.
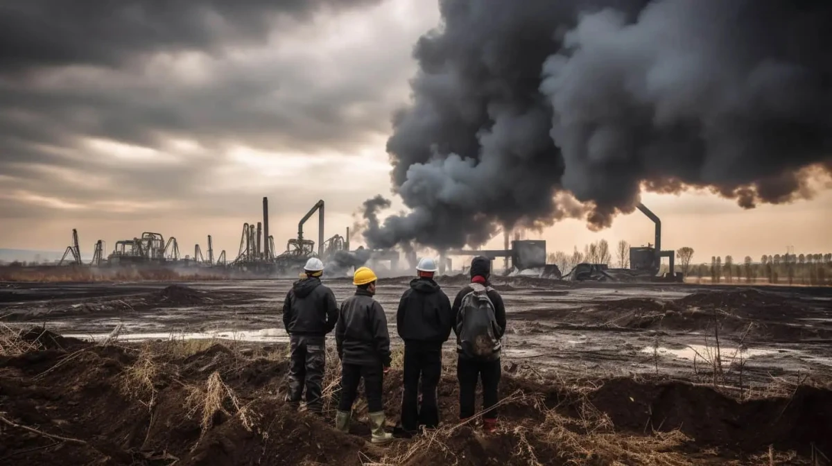
[[[801,386],[792,398],[740,403],[710,387],[682,382],[608,380],[589,395],[619,429],[680,429],[697,444],[756,451],[832,449],[832,391]]]

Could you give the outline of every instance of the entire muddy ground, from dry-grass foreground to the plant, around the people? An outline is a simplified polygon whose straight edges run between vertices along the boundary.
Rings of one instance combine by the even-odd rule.
[[[377,295],[391,425],[408,281]],[[453,298],[466,281],[440,283]],[[508,312],[498,433],[458,425],[448,343],[443,428],[379,448],[361,401],[350,435],[329,428],[337,364],[324,419],[283,403],[289,280],[0,284],[0,464],[830,464],[832,290],[494,285]]]

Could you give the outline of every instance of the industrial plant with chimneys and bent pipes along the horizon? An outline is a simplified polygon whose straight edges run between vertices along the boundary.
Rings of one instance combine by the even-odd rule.
[[[661,250],[661,220],[643,204],[637,208],[656,226],[653,243],[646,246],[631,247],[629,250],[630,267],[626,269],[610,268],[608,264],[580,263],[572,270],[560,270],[555,264],[547,263],[547,243],[545,240],[525,240],[512,232],[503,231],[504,247],[501,250],[453,249],[439,251],[439,273],[453,274],[464,270],[464,265],[454,270],[453,257],[470,257],[482,255],[490,260],[502,259],[493,266],[500,275],[531,275],[554,280],[596,280],[596,281],[681,281],[681,273],[676,272],[673,250]],[[318,216],[318,238],[312,240],[304,233],[307,221]],[[369,250],[364,246],[350,249],[350,231],[346,227],[344,235],[334,234],[325,237],[325,202],[314,203],[305,216],[298,222],[296,237],[285,242],[282,251],[275,244],[275,237],[269,232],[269,199],[263,198],[263,214],[259,221],[246,222],[240,233],[240,245],[236,255],[229,259],[225,250],[217,254],[211,235],[207,235],[206,249],[196,244],[193,254],[182,255],[175,236],[162,235],[145,231],[132,239],[117,240],[112,250],[106,254],[106,243],[97,240],[94,245],[92,260],[82,262],[77,230],[72,230],[72,243],[67,246],[58,266],[76,267],[133,267],[133,268],[176,268],[177,270],[210,270],[212,272],[234,272],[251,276],[294,276],[310,257],[318,257],[327,265],[334,275],[349,274],[355,267],[372,265],[379,270],[393,273],[404,271],[414,266],[416,252],[401,252],[396,249]],[[190,251],[190,249],[188,249]],[[404,256],[404,257],[403,257]],[[662,258],[669,259],[669,272],[659,275]],[[404,259],[404,261],[403,261]],[[460,262],[461,263],[461,262]]]

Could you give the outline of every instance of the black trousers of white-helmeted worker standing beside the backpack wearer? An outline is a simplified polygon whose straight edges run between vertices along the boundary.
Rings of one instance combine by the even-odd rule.
[[[442,376],[442,346],[404,345],[404,392],[402,393],[402,429],[415,432],[419,425],[436,429],[439,405],[436,388]],[[419,402],[419,378],[422,399]]]

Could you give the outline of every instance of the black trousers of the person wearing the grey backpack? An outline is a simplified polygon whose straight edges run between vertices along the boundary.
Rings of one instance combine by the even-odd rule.
[[[476,359],[457,360],[457,379],[459,380],[459,419],[470,418],[474,412],[474,394],[477,392],[478,379],[483,380],[483,419],[497,419],[498,394],[500,384],[500,359],[481,361]],[[490,408],[490,409],[489,409]]]

